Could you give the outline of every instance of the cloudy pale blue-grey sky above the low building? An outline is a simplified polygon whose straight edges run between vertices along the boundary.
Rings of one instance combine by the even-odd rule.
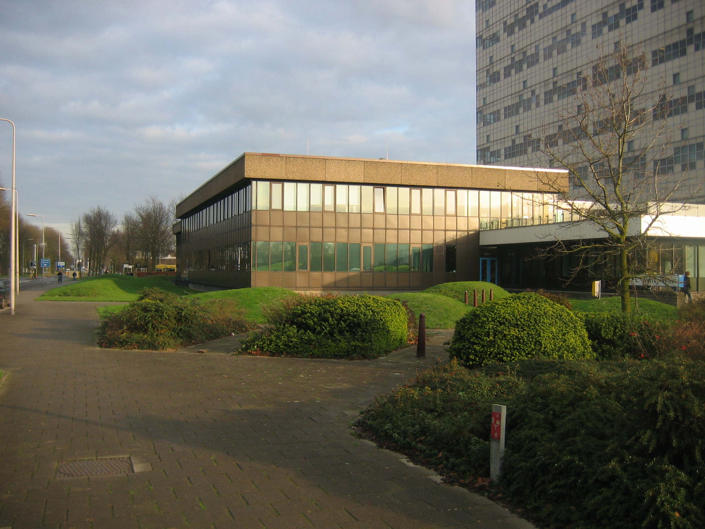
[[[186,195],[242,152],[474,161],[470,0],[0,0],[20,209]],[[0,122],[0,173],[11,176]]]

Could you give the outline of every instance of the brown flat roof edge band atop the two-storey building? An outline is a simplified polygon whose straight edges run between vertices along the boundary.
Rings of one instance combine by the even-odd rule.
[[[565,169],[243,152],[176,206],[176,217],[218,200],[243,180],[311,181],[442,188],[544,191],[568,185]]]

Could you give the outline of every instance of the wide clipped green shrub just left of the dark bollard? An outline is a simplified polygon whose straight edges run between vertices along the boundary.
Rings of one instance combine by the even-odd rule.
[[[409,317],[379,296],[298,296],[266,313],[243,353],[305,358],[377,358],[407,345]]]

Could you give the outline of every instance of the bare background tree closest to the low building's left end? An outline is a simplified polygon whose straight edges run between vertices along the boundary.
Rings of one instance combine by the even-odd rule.
[[[150,196],[135,206],[139,247],[145,259],[152,259],[149,269],[154,271],[160,255],[171,252],[174,236],[171,233],[173,211],[157,197]]]

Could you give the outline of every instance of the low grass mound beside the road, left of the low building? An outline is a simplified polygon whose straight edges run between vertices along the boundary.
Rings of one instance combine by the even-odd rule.
[[[190,288],[171,283],[171,276],[133,277],[105,274],[72,281],[66,286],[52,288],[39,296],[39,301],[134,301],[142,288],[160,288],[183,296],[193,293]]]

